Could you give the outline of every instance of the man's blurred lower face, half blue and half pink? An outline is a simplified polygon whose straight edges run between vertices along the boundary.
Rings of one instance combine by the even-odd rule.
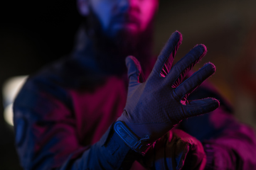
[[[120,32],[137,35],[146,30],[159,0],[90,0],[90,8],[99,19],[105,35]]]

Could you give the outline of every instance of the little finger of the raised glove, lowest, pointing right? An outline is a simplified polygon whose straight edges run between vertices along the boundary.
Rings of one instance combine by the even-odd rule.
[[[215,98],[203,98],[195,101],[188,101],[186,106],[183,106],[186,118],[202,115],[214,111],[220,106],[220,102]]]

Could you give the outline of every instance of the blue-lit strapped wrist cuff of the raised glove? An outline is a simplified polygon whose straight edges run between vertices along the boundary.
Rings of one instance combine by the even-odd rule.
[[[149,140],[149,135],[146,135],[144,138],[137,137],[127,125],[121,121],[114,123],[114,131],[117,132],[117,135],[135,152],[139,154],[145,154],[146,149],[150,146],[146,140]]]

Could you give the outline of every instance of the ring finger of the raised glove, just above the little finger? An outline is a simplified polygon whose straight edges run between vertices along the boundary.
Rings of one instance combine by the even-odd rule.
[[[205,64],[201,69],[195,72],[191,77],[183,81],[174,91],[177,100],[186,101],[189,94],[192,93],[208,77],[215,73],[215,65],[212,63]],[[185,99],[185,100],[183,100]],[[186,103],[183,103],[186,104]]]

